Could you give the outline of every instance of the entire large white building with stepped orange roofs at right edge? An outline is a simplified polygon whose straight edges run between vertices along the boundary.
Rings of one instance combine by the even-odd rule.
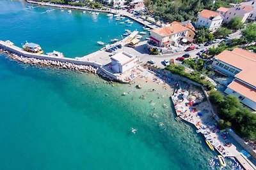
[[[225,93],[237,96],[241,103],[256,110],[256,53],[240,48],[225,50],[215,57],[212,66],[234,78]]]

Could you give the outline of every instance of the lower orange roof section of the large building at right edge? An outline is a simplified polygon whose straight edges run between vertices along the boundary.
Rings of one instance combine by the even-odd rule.
[[[256,89],[242,83],[241,81],[233,81],[228,85],[228,88],[256,102]]]

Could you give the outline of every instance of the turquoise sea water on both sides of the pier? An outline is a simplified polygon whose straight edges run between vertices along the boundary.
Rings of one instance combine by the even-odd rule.
[[[32,9],[36,13],[22,10],[28,5],[0,1],[1,38],[19,43],[26,37],[45,50],[60,49],[71,57],[99,48],[93,35],[99,30],[81,32],[83,24],[92,22],[90,16],[55,10],[32,19],[47,8]],[[109,23],[106,16],[100,17]],[[35,19],[41,27],[34,27]],[[60,38],[61,20],[69,20],[68,29],[61,30],[76,34],[74,39],[70,34]],[[105,27],[103,34],[111,37],[123,32],[110,32],[111,24]],[[81,50],[77,46],[87,37],[92,43]],[[153,88],[156,92],[147,92]],[[123,92],[130,93],[122,96]],[[140,99],[141,94],[146,99]],[[170,94],[151,84],[138,90],[134,85],[109,85],[92,74],[29,66],[0,53],[0,169],[220,169],[216,153],[202,136],[175,121],[171,107],[163,107],[170,104]],[[131,127],[138,129],[136,134]],[[234,160],[226,162],[225,169],[238,168]]]

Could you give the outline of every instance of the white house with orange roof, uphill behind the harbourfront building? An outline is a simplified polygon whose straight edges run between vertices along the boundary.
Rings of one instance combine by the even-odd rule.
[[[214,32],[221,26],[222,21],[223,16],[220,13],[202,10],[196,19],[196,27],[205,26],[209,31]]]

